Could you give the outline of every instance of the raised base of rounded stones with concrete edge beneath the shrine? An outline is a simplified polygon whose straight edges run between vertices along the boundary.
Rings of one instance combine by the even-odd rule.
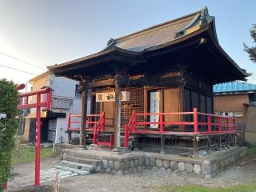
[[[90,152],[89,152],[90,151]],[[66,151],[64,151],[66,153]],[[78,154],[76,151],[75,154]],[[174,154],[154,154],[134,151],[129,154],[114,154],[113,152],[80,150],[79,156],[84,155],[102,160],[102,172],[107,174],[135,174],[142,170],[152,170],[161,174],[186,171],[198,176],[212,178],[225,166],[237,161],[246,154],[246,147],[230,147],[228,150],[215,151],[202,158],[181,157]],[[98,170],[100,171],[100,170]]]

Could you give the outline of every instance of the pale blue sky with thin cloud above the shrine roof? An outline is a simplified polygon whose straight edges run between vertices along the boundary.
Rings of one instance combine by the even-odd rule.
[[[110,38],[154,26],[201,10],[215,16],[218,41],[238,66],[254,73],[243,43],[252,46],[255,0],[0,0],[0,78],[26,83],[46,66],[94,54]],[[8,54],[24,62],[7,57]],[[43,69],[45,70],[43,70]]]

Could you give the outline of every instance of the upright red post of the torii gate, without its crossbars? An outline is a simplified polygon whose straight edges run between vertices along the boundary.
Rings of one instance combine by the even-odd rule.
[[[40,145],[41,145],[41,107],[39,103],[41,102],[41,94],[36,94],[36,142],[35,142],[35,181],[34,185],[39,186],[40,184]]]

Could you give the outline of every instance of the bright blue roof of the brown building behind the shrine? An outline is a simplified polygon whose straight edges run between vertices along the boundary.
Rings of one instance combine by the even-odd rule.
[[[214,85],[214,93],[243,92],[249,90],[256,92],[256,85],[248,82],[226,82]]]

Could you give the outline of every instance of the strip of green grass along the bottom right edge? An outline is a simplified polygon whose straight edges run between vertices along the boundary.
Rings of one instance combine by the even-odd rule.
[[[247,183],[238,186],[211,188],[207,186],[164,186],[162,192],[254,192],[256,191],[255,183]]]

